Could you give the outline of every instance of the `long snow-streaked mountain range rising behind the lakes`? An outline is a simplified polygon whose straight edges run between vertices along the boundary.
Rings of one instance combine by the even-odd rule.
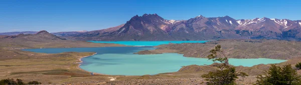
[[[52,33],[71,40],[144,41],[211,39],[301,40],[301,20],[230,16],[167,20],[158,14],[135,15],[125,24],[88,32]]]

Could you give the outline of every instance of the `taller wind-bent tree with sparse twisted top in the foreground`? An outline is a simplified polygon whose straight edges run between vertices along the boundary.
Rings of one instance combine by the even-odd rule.
[[[235,85],[235,80],[238,76],[248,76],[246,73],[237,72],[235,67],[229,64],[228,58],[221,50],[221,45],[217,45],[214,49],[210,50],[210,54],[207,58],[212,60],[219,68],[219,70],[209,72],[202,76],[208,81],[207,85]]]

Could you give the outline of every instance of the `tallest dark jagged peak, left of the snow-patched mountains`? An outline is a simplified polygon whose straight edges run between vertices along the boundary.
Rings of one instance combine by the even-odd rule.
[[[171,23],[157,14],[143,14],[134,16],[120,29],[102,35],[100,40],[172,40],[166,32]]]

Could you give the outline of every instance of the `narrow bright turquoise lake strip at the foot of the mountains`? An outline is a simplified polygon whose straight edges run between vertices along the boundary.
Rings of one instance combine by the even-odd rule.
[[[158,46],[162,44],[169,43],[205,43],[208,41],[88,41],[94,43],[114,43],[114,44],[122,44],[127,46]]]

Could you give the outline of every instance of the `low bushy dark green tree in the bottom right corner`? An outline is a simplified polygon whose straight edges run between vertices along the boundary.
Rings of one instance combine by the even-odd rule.
[[[272,65],[264,75],[257,76],[257,79],[257,85],[301,85],[300,76],[291,65],[285,65],[283,68]]]

